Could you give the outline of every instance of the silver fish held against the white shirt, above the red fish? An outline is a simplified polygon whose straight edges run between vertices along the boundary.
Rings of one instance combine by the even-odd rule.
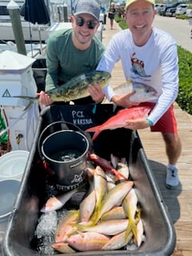
[[[134,90],[134,94],[130,96],[131,102],[149,102],[158,97],[158,93],[153,87],[141,82],[127,82],[114,87],[114,93],[118,95],[127,94],[130,90]]]

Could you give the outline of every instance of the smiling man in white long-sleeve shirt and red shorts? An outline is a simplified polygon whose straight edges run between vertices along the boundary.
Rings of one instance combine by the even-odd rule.
[[[155,14],[154,0],[128,0],[129,29],[114,35],[97,69],[111,72],[114,64],[121,60],[126,80],[142,82],[158,91],[156,101],[142,103],[153,107],[149,117],[127,120],[126,128],[138,130],[150,126],[152,131],[162,132],[168,157],[166,186],[171,189],[179,183],[176,164],[182,150],[173,106],[178,95],[178,52],[170,34],[152,26]],[[93,86],[89,90],[93,97],[98,96]],[[118,106],[134,105],[130,102],[130,93],[115,95],[110,86],[103,92]]]

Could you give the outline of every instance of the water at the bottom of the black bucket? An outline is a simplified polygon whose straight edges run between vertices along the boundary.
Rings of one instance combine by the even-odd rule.
[[[53,154],[50,158],[55,161],[70,162],[74,161],[81,156],[78,150],[61,150]]]

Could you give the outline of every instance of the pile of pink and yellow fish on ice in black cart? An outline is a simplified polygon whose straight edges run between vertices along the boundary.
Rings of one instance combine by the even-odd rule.
[[[110,161],[96,154],[89,154],[89,157],[88,190],[82,193],[79,206],[66,210],[59,219],[51,248],[66,254],[93,250],[137,250],[145,241],[145,232],[126,159],[119,159],[113,154]],[[82,190],[83,187],[79,187],[51,197],[41,209],[42,216],[65,209],[66,202]]]

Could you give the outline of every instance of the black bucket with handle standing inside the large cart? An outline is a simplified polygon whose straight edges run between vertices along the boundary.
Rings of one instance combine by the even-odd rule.
[[[86,178],[90,147],[86,135],[77,130],[57,130],[42,140],[45,132],[47,134],[47,129],[39,138],[38,150],[48,170],[54,174],[57,189],[66,191],[81,186]]]

